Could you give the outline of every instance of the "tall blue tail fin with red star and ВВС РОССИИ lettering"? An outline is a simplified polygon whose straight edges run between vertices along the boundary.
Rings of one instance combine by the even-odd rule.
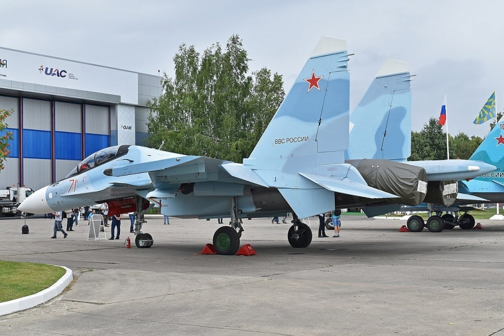
[[[322,37],[243,164],[310,173],[316,165],[343,162],[349,93],[346,41]]]

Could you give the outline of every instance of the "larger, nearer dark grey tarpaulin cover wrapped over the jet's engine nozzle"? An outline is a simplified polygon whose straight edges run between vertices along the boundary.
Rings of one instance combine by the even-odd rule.
[[[389,161],[362,159],[357,170],[366,183],[373,188],[400,197],[385,200],[415,206],[423,202],[427,193],[427,173],[422,167]]]

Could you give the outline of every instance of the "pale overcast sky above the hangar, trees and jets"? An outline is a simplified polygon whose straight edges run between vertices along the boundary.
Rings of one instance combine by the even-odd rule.
[[[180,44],[203,52],[238,34],[249,70],[281,74],[288,92],[320,37],[336,37],[355,53],[350,110],[395,59],[416,75],[414,131],[446,95],[449,133],[484,137],[489,122],[473,121],[494,90],[504,107],[503,12],[499,0],[0,0],[0,46],[171,77]]]

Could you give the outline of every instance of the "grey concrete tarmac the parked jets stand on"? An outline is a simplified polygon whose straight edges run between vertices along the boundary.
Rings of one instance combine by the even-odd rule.
[[[344,215],[336,239],[317,238],[312,218],[311,245],[294,249],[290,224],[245,220],[241,245],[258,253],[250,257],[199,254],[216,219],[148,219],[149,249],[123,247],[134,238],[129,220],[120,240],[97,242],[86,223],[50,239],[52,220],[27,219],[29,235],[23,222],[0,222],[0,259],[66,266],[75,281],[45,304],[0,316],[2,335],[504,335],[500,221],[399,233],[403,220]]]

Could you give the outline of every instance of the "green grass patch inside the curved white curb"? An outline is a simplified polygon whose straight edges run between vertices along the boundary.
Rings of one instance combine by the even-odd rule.
[[[65,268],[0,260],[0,302],[43,291],[65,275]]]

